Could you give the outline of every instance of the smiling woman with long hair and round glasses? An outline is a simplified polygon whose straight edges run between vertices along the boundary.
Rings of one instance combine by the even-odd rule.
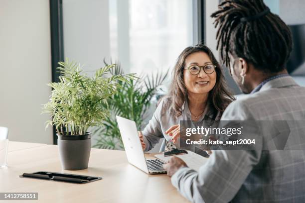
[[[176,143],[180,120],[219,120],[233,100],[211,50],[202,44],[187,47],[177,59],[168,95],[139,131],[143,150],[151,150],[163,137]]]

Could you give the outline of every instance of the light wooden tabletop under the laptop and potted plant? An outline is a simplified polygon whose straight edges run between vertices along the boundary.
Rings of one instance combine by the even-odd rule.
[[[20,149],[20,143],[9,144],[10,149]],[[72,184],[19,178],[23,173],[37,171],[98,176],[103,180]],[[0,169],[0,180],[0,192],[37,192],[38,201],[26,201],[27,203],[188,202],[171,185],[170,178],[165,174],[148,175],[142,172],[128,163],[125,151],[118,150],[92,148],[88,169],[67,171],[61,169],[57,145],[34,146],[24,143],[23,149],[8,152],[8,167]]]

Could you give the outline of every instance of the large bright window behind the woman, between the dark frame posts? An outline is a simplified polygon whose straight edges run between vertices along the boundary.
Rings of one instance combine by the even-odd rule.
[[[191,0],[63,0],[64,56],[93,72],[119,60],[126,73],[166,72],[194,44]]]

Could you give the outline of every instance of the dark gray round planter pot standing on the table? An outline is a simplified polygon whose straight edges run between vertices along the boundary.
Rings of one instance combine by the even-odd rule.
[[[86,135],[58,135],[57,144],[61,166],[64,170],[88,168],[91,151],[90,132]]]

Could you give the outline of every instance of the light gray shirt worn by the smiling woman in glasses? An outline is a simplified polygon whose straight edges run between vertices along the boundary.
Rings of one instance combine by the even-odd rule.
[[[221,113],[215,109],[210,109],[208,106],[210,106],[209,102],[204,112],[199,117],[199,121],[203,119],[213,119],[213,117],[215,117],[215,120],[219,120]],[[172,112],[169,111],[169,99],[163,98],[160,101],[153,113],[152,119],[142,132],[144,142],[146,144],[145,151],[151,150],[161,138],[165,138],[167,141],[170,141],[171,136],[166,135],[165,131],[172,125],[180,124],[180,120],[191,120],[192,116],[187,102],[184,102],[184,104],[181,106],[181,110],[182,114],[179,117],[176,117]]]

